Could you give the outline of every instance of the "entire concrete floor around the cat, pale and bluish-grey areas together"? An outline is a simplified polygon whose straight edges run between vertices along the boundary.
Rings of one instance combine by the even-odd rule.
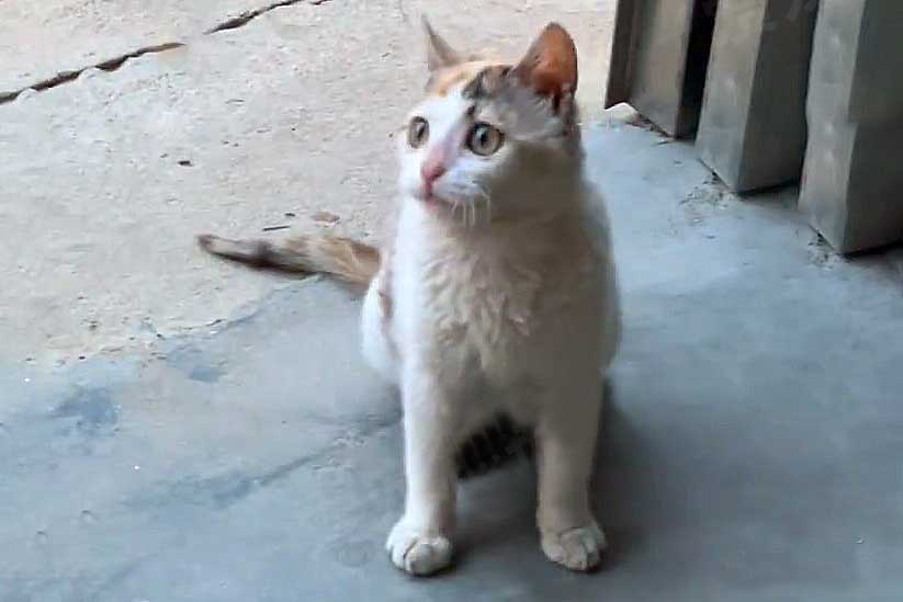
[[[80,73],[0,104],[1,602],[900,600],[903,252],[839,260],[793,191],[741,201],[603,115],[613,0],[302,0],[204,34],[269,5],[0,2],[0,102]],[[580,49],[627,322],[592,576],[542,557],[527,464],[463,487],[453,572],[392,568],[399,410],[358,300],[192,242],[321,211],[374,237],[425,9],[467,48],[556,19]]]

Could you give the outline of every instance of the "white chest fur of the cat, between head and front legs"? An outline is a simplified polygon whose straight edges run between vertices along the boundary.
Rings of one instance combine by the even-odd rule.
[[[393,295],[403,352],[511,384],[603,336],[603,266],[579,214],[450,231],[421,207],[402,213]],[[587,348],[589,345],[589,348]],[[404,354],[404,353],[403,353]],[[465,376],[462,374],[462,376]]]

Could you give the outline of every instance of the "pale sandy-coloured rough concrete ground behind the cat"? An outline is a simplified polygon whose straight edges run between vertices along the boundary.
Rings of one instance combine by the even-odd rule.
[[[550,20],[600,114],[614,0],[0,3],[0,360],[63,365],[235,318],[282,280],[211,261],[199,231],[329,227],[374,237],[391,133],[418,96],[417,18],[515,55]],[[184,46],[84,69],[163,44]],[[80,75],[41,92],[64,72]],[[71,76],[69,76],[71,77]],[[280,237],[286,231],[271,235]]]

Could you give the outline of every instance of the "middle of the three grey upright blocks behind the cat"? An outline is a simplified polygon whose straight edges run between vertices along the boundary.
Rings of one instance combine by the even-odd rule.
[[[799,180],[817,0],[721,0],[697,148],[736,192]]]

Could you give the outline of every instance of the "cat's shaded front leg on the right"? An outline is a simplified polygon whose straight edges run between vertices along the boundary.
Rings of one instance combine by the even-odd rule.
[[[577,378],[550,394],[553,399],[544,405],[535,431],[542,549],[571,570],[590,570],[607,545],[589,508],[601,377]]]

